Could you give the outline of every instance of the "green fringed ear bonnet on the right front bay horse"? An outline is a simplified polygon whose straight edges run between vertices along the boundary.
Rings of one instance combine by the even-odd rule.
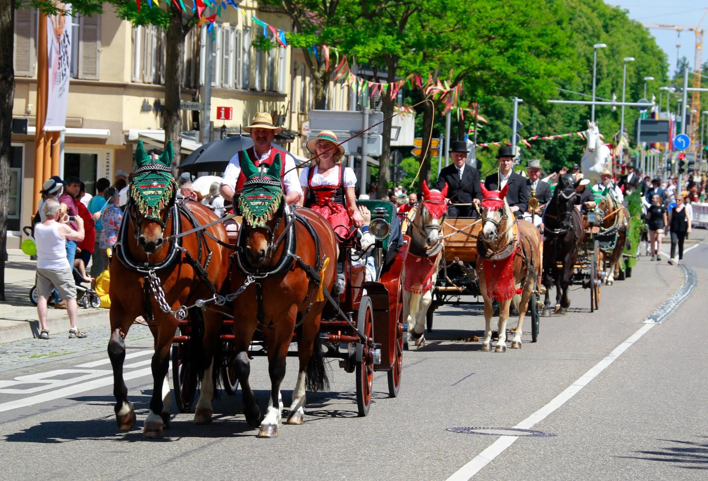
[[[273,164],[256,167],[246,154],[241,153],[241,171],[246,177],[239,197],[239,209],[251,227],[265,227],[266,222],[280,207],[282,183],[280,182],[280,153],[275,154]]]

